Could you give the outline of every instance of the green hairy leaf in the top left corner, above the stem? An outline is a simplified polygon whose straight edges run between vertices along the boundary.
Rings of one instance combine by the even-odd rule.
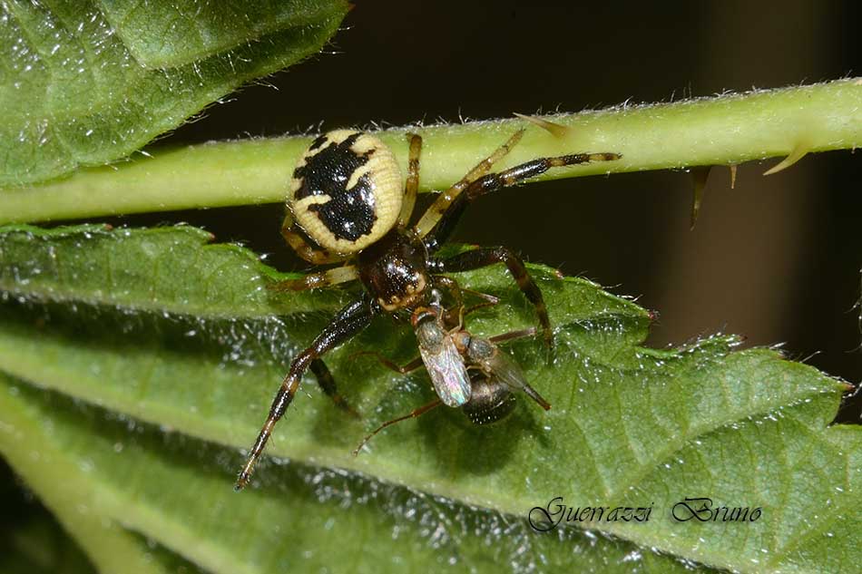
[[[347,7],[343,0],[3,3],[0,186],[129,155],[242,83],[317,53]]]

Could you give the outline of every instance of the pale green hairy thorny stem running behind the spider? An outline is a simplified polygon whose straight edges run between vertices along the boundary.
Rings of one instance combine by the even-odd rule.
[[[579,151],[615,151],[621,161],[551,170],[539,179],[730,165],[808,151],[855,149],[862,142],[862,79],[721,95],[657,105],[621,105],[558,114],[568,128],[553,135],[520,119],[380,131],[402,166],[406,131],[425,145],[421,187],[439,190],[460,178],[519,127],[524,139],[502,165]],[[64,180],[0,190],[0,223],[119,213],[279,202],[310,136],[222,141],[113,166],[79,170]]]

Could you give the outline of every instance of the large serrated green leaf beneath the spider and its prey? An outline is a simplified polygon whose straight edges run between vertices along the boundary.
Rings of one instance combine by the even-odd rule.
[[[105,571],[127,554],[124,571],[175,560],[217,572],[672,572],[692,562],[850,572],[862,562],[862,435],[828,426],[846,384],[774,350],[733,351],[733,337],[645,348],[642,308],[536,266],[556,362],[530,340],[506,350],[550,412],[521,400],[511,419],[481,428],[436,409],[353,457],[377,423],[432,396],[422,373],[351,358],[416,355],[409,327],[380,317],[328,355],[364,419],[307,381],[268,451],[289,462],[265,462],[235,494],[239,449],[290,357],[356,291],[270,291],[279,274],[208,238],[182,227],[0,234],[0,452]],[[504,268],[457,277],[503,297],[470,317],[476,333],[534,322]],[[531,509],[557,496],[651,507],[651,518],[530,530]],[[702,496],[759,507],[760,518],[671,518],[677,502]]]

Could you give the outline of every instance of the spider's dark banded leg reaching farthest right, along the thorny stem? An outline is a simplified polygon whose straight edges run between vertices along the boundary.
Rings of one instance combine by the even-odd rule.
[[[446,242],[455,229],[458,219],[464,213],[466,206],[477,197],[509,187],[519,181],[534,178],[551,168],[577,165],[590,161],[613,161],[619,160],[621,157],[618,153],[610,152],[574,153],[554,158],[539,158],[538,160],[527,161],[508,170],[500,171],[499,173],[490,173],[470,183],[464,190],[464,193],[455,196],[451,201],[441,201],[440,199],[443,198],[438,198],[426,210],[425,215],[422,216],[419,223],[416,224],[417,232],[420,237],[425,239],[428,250],[434,251],[438,246]],[[421,232],[418,230],[420,225],[425,226]]]

